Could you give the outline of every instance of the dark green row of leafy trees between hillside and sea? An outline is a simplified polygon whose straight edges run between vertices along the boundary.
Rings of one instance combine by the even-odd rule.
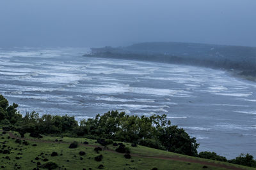
[[[81,120],[68,115],[42,115],[35,111],[26,113],[24,117],[17,111],[18,105],[9,106],[7,99],[0,95],[0,126],[18,131],[21,136],[30,133],[33,138],[42,138],[40,134],[56,136],[83,137],[91,139],[112,139],[169,152],[181,153],[205,159],[220,160],[256,167],[252,155],[240,155],[227,160],[214,152],[197,153],[199,146],[195,138],[191,138],[184,129],[171,125],[166,115],[150,117],[126,115],[124,112],[108,111],[95,118]],[[248,163],[249,162],[249,163]]]

